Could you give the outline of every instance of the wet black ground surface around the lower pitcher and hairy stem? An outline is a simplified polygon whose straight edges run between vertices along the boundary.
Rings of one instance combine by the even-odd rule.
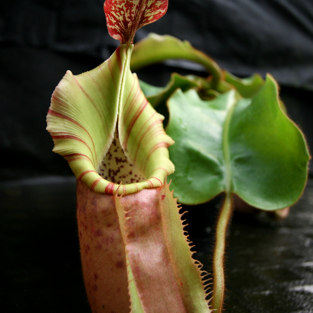
[[[1,312],[90,312],[80,271],[75,181],[1,183]],[[190,238],[210,270],[218,201],[189,207]],[[235,213],[225,312],[313,312],[313,180],[287,219]]]

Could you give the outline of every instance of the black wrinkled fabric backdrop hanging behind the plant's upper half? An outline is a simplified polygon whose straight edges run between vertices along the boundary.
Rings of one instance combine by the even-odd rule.
[[[74,74],[90,70],[116,48],[103,1],[6,1],[0,12],[0,149],[5,158],[0,178],[71,175],[62,157],[51,152],[45,116],[67,69]],[[313,146],[312,1],[169,0],[166,15],[141,28],[136,40],[149,32],[187,39],[235,75],[271,73]],[[157,67],[159,80],[150,82],[163,85],[169,72],[185,66]],[[156,74],[141,75],[151,80]]]

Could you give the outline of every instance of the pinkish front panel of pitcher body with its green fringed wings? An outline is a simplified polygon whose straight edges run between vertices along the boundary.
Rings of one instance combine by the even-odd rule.
[[[192,259],[169,186],[115,197],[133,313],[209,313],[201,264]]]

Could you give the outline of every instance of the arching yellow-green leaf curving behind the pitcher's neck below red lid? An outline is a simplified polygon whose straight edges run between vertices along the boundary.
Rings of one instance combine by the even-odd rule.
[[[222,70],[210,57],[193,48],[188,41],[181,41],[169,35],[150,33],[146,38],[135,44],[131,56],[131,70],[151,65],[166,59],[186,59],[202,64],[210,74],[212,83],[217,84],[222,76]]]

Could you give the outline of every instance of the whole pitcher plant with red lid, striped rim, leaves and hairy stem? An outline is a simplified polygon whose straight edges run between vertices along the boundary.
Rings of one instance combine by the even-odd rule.
[[[171,36],[151,34],[134,45],[136,30],[161,18],[167,5],[106,0],[107,28],[120,45],[93,70],[67,71],[51,97],[47,130],[77,179],[93,313],[221,312],[234,195],[275,211],[295,203],[305,187],[305,139],[270,75],[239,79]],[[172,58],[198,62],[209,75],[172,74],[161,88],[132,72]],[[177,197],[199,204],[220,193],[211,282],[193,259]]]

